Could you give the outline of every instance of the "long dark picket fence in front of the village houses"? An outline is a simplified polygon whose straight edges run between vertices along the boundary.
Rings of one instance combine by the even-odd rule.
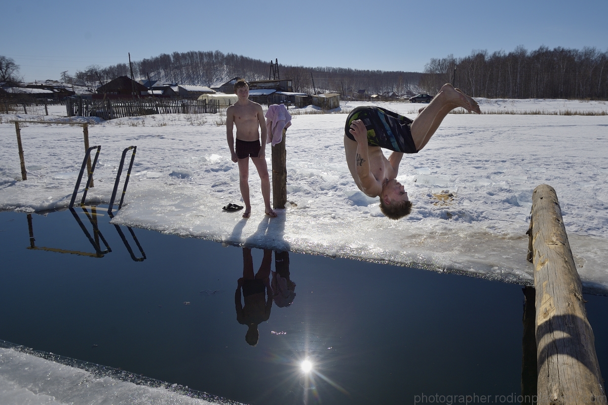
[[[216,114],[219,103],[215,100],[172,100],[168,98],[142,98],[140,100],[83,100],[68,98],[68,117],[100,117],[113,120],[121,117],[139,117],[152,114]]]

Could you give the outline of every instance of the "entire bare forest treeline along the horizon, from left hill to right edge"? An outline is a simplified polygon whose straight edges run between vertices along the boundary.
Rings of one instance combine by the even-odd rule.
[[[269,73],[270,61],[219,51],[164,53],[133,62],[136,80],[150,77],[203,86],[218,86],[233,77],[268,80]],[[399,95],[436,94],[444,83],[455,81],[457,87],[472,97],[608,98],[608,52],[593,47],[551,50],[541,46],[528,51],[519,46],[512,52],[500,50],[491,54],[487,50],[474,50],[463,58],[453,55],[432,58],[423,73],[282,64],[279,73],[281,78],[293,81],[294,91],[308,94],[352,95],[362,89],[367,95],[390,91]],[[130,76],[128,64],[90,66],[77,72],[75,78],[95,86],[119,76]]]

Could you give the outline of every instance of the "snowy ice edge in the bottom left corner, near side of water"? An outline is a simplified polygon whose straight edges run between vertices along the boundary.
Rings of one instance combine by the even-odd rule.
[[[4,404],[237,404],[188,390],[187,387],[163,384],[162,381],[109,367],[79,362],[51,353],[22,350],[26,352],[0,347],[0,398]],[[57,359],[58,362],[47,358]],[[80,367],[68,364],[77,364]],[[210,401],[191,396],[207,396]]]

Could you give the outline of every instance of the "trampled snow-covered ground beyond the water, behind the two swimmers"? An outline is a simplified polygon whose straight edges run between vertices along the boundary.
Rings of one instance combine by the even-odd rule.
[[[484,111],[608,111],[604,101],[479,101]],[[342,109],[361,104],[343,103]],[[426,104],[377,105],[415,118]],[[0,209],[66,207],[83,158],[81,128],[23,126],[28,180],[20,182],[15,127],[7,123],[15,116],[0,117]],[[529,284],[531,192],[547,183],[558,192],[586,290],[608,294],[608,116],[448,115],[426,148],[401,162],[398,180],[414,208],[398,221],[382,216],[377,199],[354,185],[344,158],[346,117],[294,115],[286,145],[288,200],[297,208],[276,219],[264,216],[253,165],[251,218],[221,211],[240,201],[240,191],[218,115],[151,115],[91,126],[91,145],[102,145],[102,152],[88,201],[109,201],[122,149],[136,145],[117,223]],[[454,197],[439,200],[435,194],[443,191]]]

